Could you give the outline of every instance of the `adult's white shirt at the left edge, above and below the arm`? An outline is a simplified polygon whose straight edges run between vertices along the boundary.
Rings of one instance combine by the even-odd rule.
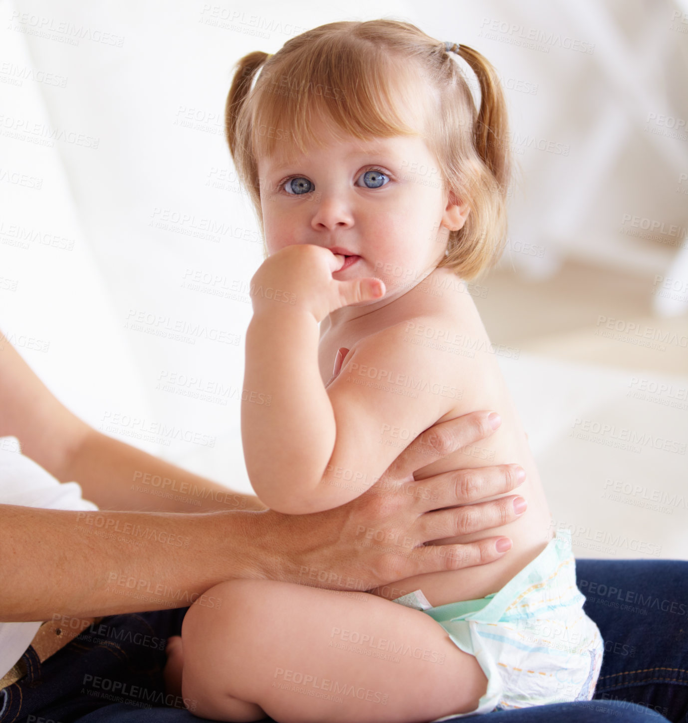
[[[0,504],[51,510],[98,509],[93,502],[82,499],[77,482],[61,484],[22,455],[17,437],[0,437]],[[0,623],[0,677],[24,654],[41,622]],[[0,709],[3,707],[0,699]]]

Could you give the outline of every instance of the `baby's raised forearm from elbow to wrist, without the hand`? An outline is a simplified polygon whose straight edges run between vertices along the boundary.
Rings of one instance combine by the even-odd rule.
[[[281,512],[310,511],[293,505],[313,496],[336,440],[318,341],[313,315],[299,307],[256,313],[246,334],[244,458],[258,497]]]

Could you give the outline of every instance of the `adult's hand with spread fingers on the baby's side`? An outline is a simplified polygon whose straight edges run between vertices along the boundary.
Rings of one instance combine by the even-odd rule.
[[[425,543],[514,521],[519,516],[514,511],[516,495],[479,500],[518,487],[525,471],[509,464],[444,472],[418,482],[413,472],[489,437],[499,422],[498,416],[477,411],[426,429],[373,487],[341,507],[310,515],[253,513],[251,553],[256,555],[256,576],[370,590],[421,573],[498,560],[511,547],[504,536],[466,544]],[[508,546],[498,549],[500,541]]]

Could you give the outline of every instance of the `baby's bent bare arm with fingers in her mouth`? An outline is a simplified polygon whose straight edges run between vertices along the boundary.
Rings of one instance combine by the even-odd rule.
[[[361,495],[405,445],[451,409],[453,401],[404,388],[402,380],[425,377],[442,385],[443,378],[456,373],[455,367],[451,375],[439,369],[433,350],[405,341],[404,323],[354,345],[339,377],[325,388],[318,368],[318,315],[312,303],[315,288],[324,282],[317,273],[317,283],[313,278],[301,281],[313,267],[299,256],[313,253],[318,260],[323,252],[326,249],[290,252],[299,274],[291,273],[289,259],[276,260],[269,303],[255,299],[266,293],[270,275],[257,274],[252,280],[255,313],[246,335],[242,395],[245,462],[258,497],[273,510],[291,514],[328,510]],[[343,285],[332,281],[331,270],[328,274],[331,283]],[[278,292],[286,301],[276,300]],[[318,313],[329,313],[323,309]],[[366,368],[378,369],[382,379],[371,379]],[[392,427],[403,430],[401,440],[383,435]]]

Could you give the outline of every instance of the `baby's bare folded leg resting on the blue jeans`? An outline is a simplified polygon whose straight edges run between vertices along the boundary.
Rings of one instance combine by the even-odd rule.
[[[420,723],[474,710],[487,689],[441,625],[375,595],[237,580],[207,596],[221,608],[194,604],[182,627],[196,715]]]

